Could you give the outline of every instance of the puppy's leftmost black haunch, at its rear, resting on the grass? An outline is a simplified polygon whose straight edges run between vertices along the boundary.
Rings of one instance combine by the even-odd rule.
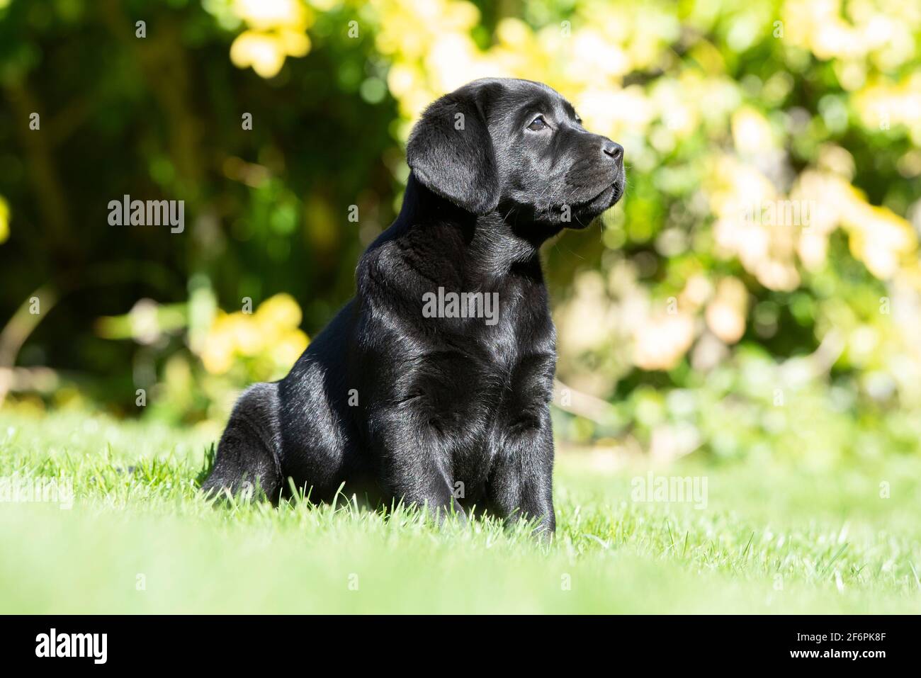
[[[217,445],[215,465],[202,491],[277,502],[282,489],[278,385],[253,384],[239,396]]]

